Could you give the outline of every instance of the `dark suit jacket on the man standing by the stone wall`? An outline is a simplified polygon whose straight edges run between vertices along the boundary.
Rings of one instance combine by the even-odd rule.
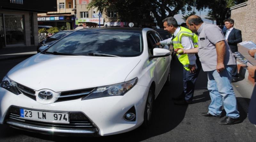
[[[223,33],[226,35],[226,32]],[[228,45],[230,50],[234,53],[237,52],[237,43],[242,42],[242,34],[238,29],[233,28],[233,30],[228,35]]]

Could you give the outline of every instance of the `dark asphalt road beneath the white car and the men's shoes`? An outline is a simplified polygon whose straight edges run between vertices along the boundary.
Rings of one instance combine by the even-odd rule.
[[[23,59],[1,61],[0,78]],[[28,76],[29,77],[29,76]],[[60,137],[43,135],[33,132],[13,129],[7,125],[0,125],[1,142],[48,142],[48,141],[145,141],[145,142],[170,142],[170,141],[200,141],[200,142],[231,142],[231,141],[256,141],[256,127],[247,118],[247,108],[252,85],[241,80],[234,85],[238,110],[242,123],[230,126],[219,125],[222,118],[208,118],[199,116],[200,112],[207,112],[211,102],[209,92],[206,89],[207,75],[201,71],[196,82],[194,103],[189,105],[174,105],[172,97],[182,92],[182,66],[174,60],[172,64],[172,81],[164,86],[154,103],[152,124],[146,129],[139,127],[133,131],[114,136],[85,138],[85,137]],[[244,97],[245,96],[245,97]]]

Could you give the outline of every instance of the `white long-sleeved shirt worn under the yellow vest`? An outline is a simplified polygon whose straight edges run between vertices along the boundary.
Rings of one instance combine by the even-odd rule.
[[[177,34],[180,32],[180,27],[178,27],[175,32],[173,33],[174,36],[177,36]],[[172,37],[163,41],[160,41],[161,45],[166,45],[166,44],[172,44]],[[184,49],[193,49],[194,44],[193,40],[191,37],[188,36],[181,36],[181,45],[183,46]],[[193,65],[196,64],[196,56],[195,54],[188,54],[188,60],[189,64]]]

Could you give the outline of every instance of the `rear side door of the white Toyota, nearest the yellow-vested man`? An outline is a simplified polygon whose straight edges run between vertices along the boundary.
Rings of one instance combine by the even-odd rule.
[[[162,41],[162,39],[161,39],[161,37],[160,37],[160,35],[158,33],[153,32],[152,34],[155,37],[156,42]],[[159,45],[158,47],[169,50],[168,45]],[[161,72],[163,72],[163,74],[161,74],[161,88],[162,88],[164,86],[164,83],[165,83],[166,78],[168,76],[169,67],[170,67],[169,63],[171,63],[171,61],[170,61],[170,56],[162,57],[161,60],[162,60],[161,69],[163,70],[163,71],[161,71]]]

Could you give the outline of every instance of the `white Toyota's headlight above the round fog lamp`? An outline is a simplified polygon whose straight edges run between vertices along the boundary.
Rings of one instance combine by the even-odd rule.
[[[97,87],[92,93],[84,97],[82,100],[89,100],[94,98],[109,97],[109,96],[122,96],[132,89],[138,82],[138,78],[123,83],[113,84],[109,86]]]

